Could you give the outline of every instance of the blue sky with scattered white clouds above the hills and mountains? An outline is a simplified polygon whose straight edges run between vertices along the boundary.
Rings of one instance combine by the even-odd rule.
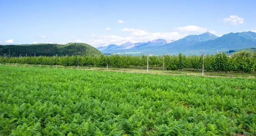
[[[0,44],[94,47],[255,31],[255,0],[0,0]]]

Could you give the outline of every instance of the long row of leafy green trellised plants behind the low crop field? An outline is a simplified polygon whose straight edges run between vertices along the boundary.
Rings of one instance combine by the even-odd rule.
[[[232,56],[225,53],[204,56],[204,70],[206,71],[240,71],[253,72],[256,70],[256,57],[254,54],[240,52]],[[202,69],[203,55],[185,56],[165,55],[149,56],[150,67],[164,67],[167,70],[181,70],[183,68]],[[62,65],[62,66],[112,66],[117,68],[129,68],[131,66],[147,66],[147,56],[39,56],[39,57],[0,57],[0,63],[18,63],[32,65]]]

